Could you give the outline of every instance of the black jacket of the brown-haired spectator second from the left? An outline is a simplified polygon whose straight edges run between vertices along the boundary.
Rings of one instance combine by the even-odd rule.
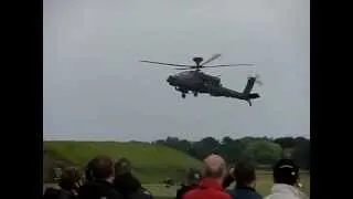
[[[79,188],[79,199],[124,199],[108,181],[89,181]]]

